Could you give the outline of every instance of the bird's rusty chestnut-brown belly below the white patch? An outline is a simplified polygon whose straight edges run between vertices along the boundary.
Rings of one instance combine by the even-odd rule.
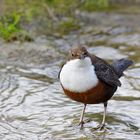
[[[101,81],[96,87],[83,93],[72,92],[65,89],[64,87],[63,90],[69,98],[85,104],[98,104],[106,102],[112,97],[112,95],[116,91],[116,89]]]

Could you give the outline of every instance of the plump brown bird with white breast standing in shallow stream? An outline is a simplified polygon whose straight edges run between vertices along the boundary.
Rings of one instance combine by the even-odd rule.
[[[68,60],[59,72],[59,80],[64,93],[84,105],[79,121],[81,129],[87,104],[99,103],[104,105],[104,113],[101,124],[96,128],[102,130],[105,127],[108,101],[121,86],[119,78],[124,70],[132,64],[133,61],[126,58],[109,64],[89,53],[85,46],[70,50]]]

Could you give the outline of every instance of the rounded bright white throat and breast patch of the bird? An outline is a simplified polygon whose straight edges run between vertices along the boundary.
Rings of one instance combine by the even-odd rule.
[[[62,86],[73,92],[85,92],[98,84],[94,66],[89,57],[68,61],[60,72]]]

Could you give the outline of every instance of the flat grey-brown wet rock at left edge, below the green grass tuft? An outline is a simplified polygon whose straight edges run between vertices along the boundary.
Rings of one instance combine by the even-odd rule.
[[[36,41],[32,43],[9,43],[0,47],[0,64],[16,66],[48,65],[59,59],[61,56],[51,45],[46,42]]]

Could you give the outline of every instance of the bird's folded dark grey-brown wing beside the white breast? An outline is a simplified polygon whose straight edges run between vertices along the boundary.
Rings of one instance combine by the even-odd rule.
[[[97,77],[111,86],[121,86],[119,76],[115,73],[113,67],[99,57],[91,56],[95,67]]]

